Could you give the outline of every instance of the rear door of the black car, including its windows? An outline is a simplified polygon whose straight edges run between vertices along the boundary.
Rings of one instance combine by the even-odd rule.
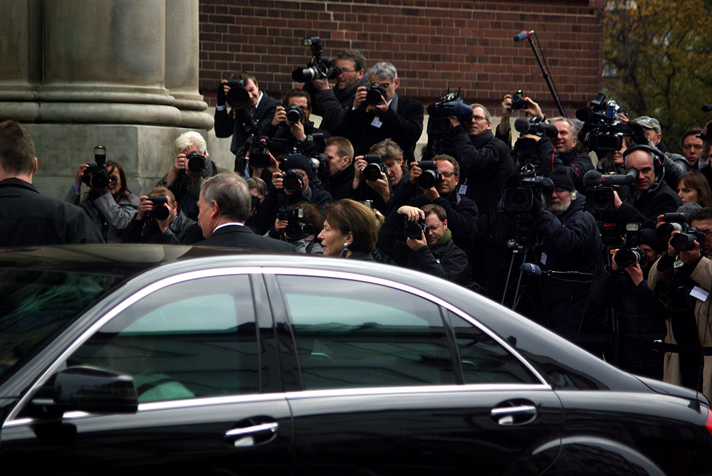
[[[295,273],[268,285],[303,388],[287,392],[295,474],[517,474],[553,462],[562,409],[533,368],[428,293],[368,281]]]

